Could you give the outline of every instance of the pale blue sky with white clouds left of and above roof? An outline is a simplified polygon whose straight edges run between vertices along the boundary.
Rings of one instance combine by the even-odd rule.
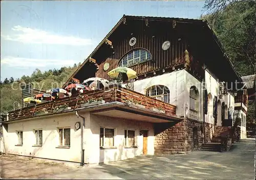
[[[125,15],[199,18],[204,1],[1,1],[1,80],[83,62]]]

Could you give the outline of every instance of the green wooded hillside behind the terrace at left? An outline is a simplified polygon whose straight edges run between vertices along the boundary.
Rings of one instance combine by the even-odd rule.
[[[81,64],[81,63],[79,63]],[[20,82],[33,83],[35,89],[41,89],[46,91],[47,89],[61,87],[69,77],[76,71],[77,65],[75,64],[70,68],[60,68],[60,70],[49,70],[41,72],[36,69],[31,76],[22,76],[16,81],[11,77],[9,80],[6,78],[1,83],[1,113],[6,114],[8,111],[13,110],[13,103],[17,101],[22,107],[22,88],[20,88]],[[18,103],[15,103],[15,109],[19,108]]]

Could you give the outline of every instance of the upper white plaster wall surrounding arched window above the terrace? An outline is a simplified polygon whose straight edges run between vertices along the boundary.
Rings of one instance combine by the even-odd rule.
[[[145,94],[146,89],[153,85],[164,85],[170,91],[170,104],[177,106],[176,115],[184,116],[185,70],[175,71],[134,82],[134,91]]]

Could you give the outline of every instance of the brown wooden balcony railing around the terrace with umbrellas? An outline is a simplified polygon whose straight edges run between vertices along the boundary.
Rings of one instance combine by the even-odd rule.
[[[125,101],[131,99],[133,99],[134,102],[144,105],[146,109],[151,109],[154,107],[164,110],[166,115],[176,115],[176,106],[172,104],[168,104],[163,101],[147,97],[143,94],[128,90],[123,87],[117,87],[116,85],[112,85],[103,90],[88,91],[83,94],[78,94],[77,96],[56,99],[54,101],[49,101],[34,106],[10,111],[8,113],[8,120],[10,121],[31,118],[36,116],[40,112],[45,112],[45,114],[54,114],[56,113],[55,109],[61,107],[70,107],[71,109],[76,109],[80,107],[80,104],[86,103],[88,101],[104,100],[105,103],[125,103]],[[7,118],[4,119],[4,121],[6,120]]]

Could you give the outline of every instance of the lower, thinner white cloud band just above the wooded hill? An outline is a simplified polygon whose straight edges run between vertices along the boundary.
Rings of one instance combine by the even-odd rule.
[[[63,59],[32,59],[22,57],[5,57],[1,59],[1,65],[8,65],[13,68],[32,68],[32,67],[46,67],[46,66],[69,66],[74,65],[74,60]]]

